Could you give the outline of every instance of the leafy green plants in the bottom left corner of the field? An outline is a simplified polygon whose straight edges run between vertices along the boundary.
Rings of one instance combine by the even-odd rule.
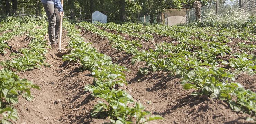
[[[30,101],[33,99],[30,89],[40,88],[27,79],[20,79],[8,69],[0,71],[0,82],[0,113],[3,114],[1,122],[6,124],[10,119],[14,121],[18,119],[17,110],[13,108],[13,105],[18,103],[18,96],[23,94],[23,97]]]

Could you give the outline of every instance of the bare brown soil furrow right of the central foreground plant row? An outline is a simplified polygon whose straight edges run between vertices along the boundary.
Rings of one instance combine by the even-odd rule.
[[[148,75],[137,75],[144,63],[131,65],[131,55],[118,52],[111,47],[105,38],[83,31],[82,36],[86,41],[101,53],[113,58],[113,62],[127,67],[126,72],[129,82],[127,91],[145,105],[146,110],[154,115],[161,115],[165,120],[151,123],[179,124],[179,123],[209,123],[209,124],[236,124],[245,123],[248,114],[236,113],[221,100],[210,100],[207,97],[192,97],[192,90],[184,90],[180,79],[168,72],[155,72]]]

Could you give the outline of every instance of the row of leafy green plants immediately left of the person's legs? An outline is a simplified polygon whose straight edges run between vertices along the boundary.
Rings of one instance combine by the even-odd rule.
[[[48,63],[45,63],[48,41],[44,37],[48,31],[47,23],[44,20],[30,20],[30,22],[25,24],[27,25],[26,29],[28,29],[28,37],[32,38],[28,48],[22,48],[18,53],[12,53],[12,56],[15,56],[15,58],[1,62],[1,65],[8,69],[16,69],[17,71],[40,68],[42,65],[49,66]]]

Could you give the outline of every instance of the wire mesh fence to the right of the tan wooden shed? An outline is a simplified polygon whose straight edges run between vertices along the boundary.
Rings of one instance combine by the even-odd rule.
[[[241,2],[239,4],[239,2]],[[201,7],[201,20],[204,20],[209,15],[208,14],[216,14],[217,16],[228,16],[236,11],[244,11],[247,14],[255,14],[256,13],[256,0],[237,0],[230,1],[225,3],[218,3],[214,5],[208,5]],[[233,10],[233,11],[232,11]],[[214,11],[215,13],[210,13],[209,11]],[[194,8],[187,11],[187,22],[192,23],[196,22],[196,13]]]

